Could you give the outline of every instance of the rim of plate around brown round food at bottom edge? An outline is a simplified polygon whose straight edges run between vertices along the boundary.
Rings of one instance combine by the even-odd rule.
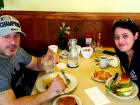
[[[77,105],[82,105],[82,102],[80,100],[79,97],[75,96],[75,95],[62,95],[60,97],[57,97],[54,101],[53,101],[53,105],[57,105],[57,101],[60,99],[60,98],[63,98],[63,97],[74,97],[76,99],[76,102],[77,102]]]

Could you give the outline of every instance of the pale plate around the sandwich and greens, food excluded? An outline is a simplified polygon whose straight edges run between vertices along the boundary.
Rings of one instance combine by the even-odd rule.
[[[111,78],[107,79],[106,81],[106,86],[109,86],[109,84],[112,82],[112,79],[114,78],[114,76],[112,76]],[[123,101],[123,102],[129,102],[131,101],[132,99],[134,99],[137,94],[138,94],[138,86],[132,82],[132,94],[129,95],[129,96],[118,96],[114,93],[112,93],[111,91],[107,91],[111,96],[113,96],[115,99],[119,100],[119,101]]]

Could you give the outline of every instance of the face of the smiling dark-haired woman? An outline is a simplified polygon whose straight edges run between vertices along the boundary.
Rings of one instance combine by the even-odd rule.
[[[132,50],[135,40],[138,38],[138,32],[135,35],[125,28],[117,27],[114,31],[114,41],[116,47],[122,51],[128,53]]]

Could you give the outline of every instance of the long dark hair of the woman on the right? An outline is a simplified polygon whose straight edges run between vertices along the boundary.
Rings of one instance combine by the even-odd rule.
[[[115,29],[118,27],[128,29],[129,31],[131,31],[133,33],[133,35],[135,35],[136,32],[139,32],[137,25],[131,19],[120,19],[120,20],[115,21],[113,23],[113,27],[112,27],[113,35],[115,32]],[[128,68],[126,68],[126,67],[128,67],[128,64],[129,64],[127,54],[125,52],[121,52],[116,46],[114,48],[116,51],[116,55],[119,57],[125,70],[128,69]],[[140,37],[139,36],[138,36],[138,39],[135,40],[132,49],[134,49],[134,51],[135,51],[135,49],[138,49],[138,48],[140,49]]]

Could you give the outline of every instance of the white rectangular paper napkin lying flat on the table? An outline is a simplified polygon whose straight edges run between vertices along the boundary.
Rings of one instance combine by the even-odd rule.
[[[98,87],[84,90],[95,105],[104,105],[110,103],[110,100],[100,91]]]

